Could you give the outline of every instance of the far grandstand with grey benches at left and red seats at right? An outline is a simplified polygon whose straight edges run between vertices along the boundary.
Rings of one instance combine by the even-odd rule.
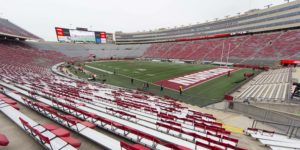
[[[224,61],[228,55],[228,61],[231,63],[271,65],[281,59],[300,58],[299,34],[300,30],[297,29],[176,43],[74,45],[70,43],[29,42],[28,44],[40,50],[59,51],[69,57],[86,58],[89,54],[95,54],[99,59],[114,57],[220,62],[221,57]],[[82,51],[84,51],[83,54]]]

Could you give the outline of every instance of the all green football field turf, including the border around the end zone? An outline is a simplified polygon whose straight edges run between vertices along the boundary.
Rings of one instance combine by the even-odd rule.
[[[84,68],[96,73],[99,80],[105,79],[108,84],[130,89],[144,89],[156,95],[167,95],[200,106],[220,101],[226,92],[243,82],[244,73],[252,72],[251,69],[231,68],[234,71],[232,71],[230,77],[227,76],[227,73],[220,74],[186,88],[183,94],[179,95],[177,88],[172,89],[163,86],[164,89],[161,90],[160,84],[157,83],[189,74],[205,72],[218,68],[218,66],[127,60],[91,62],[86,63]],[[134,80],[133,84],[131,84],[131,79]],[[146,83],[149,83],[149,88],[145,88]]]

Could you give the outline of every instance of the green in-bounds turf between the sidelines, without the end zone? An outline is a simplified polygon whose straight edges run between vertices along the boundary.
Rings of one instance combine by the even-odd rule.
[[[130,76],[148,82],[169,79],[175,76],[182,76],[195,71],[207,70],[214,67],[212,65],[174,64],[134,60],[93,62],[87,65],[101,68],[110,72],[116,71],[118,74]]]

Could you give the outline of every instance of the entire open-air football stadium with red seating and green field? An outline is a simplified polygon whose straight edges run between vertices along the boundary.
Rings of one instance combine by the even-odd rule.
[[[300,0],[53,33],[0,17],[0,150],[300,150]]]

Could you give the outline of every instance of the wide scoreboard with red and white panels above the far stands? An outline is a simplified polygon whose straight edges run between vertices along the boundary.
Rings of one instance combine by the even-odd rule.
[[[55,27],[57,41],[73,43],[113,43],[113,34],[101,31],[88,31]],[[107,36],[108,35],[108,36]],[[108,38],[108,39],[107,39]]]

